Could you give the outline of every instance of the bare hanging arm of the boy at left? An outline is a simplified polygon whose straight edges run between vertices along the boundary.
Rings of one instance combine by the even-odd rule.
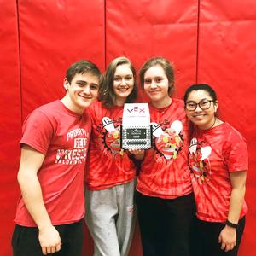
[[[18,182],[28,212],[38,225],[38,239],[44,255],[61,249],[61,238],[51,224],[44,206],[41,185],[38,181],[38,170],[44,161],[44,154],[23,145],[21,148]]]

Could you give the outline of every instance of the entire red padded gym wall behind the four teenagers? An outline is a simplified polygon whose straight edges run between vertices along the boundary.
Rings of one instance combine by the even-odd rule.
[[[119,55],[131,58],[137,71],[154,55],[168,58],[175,67],[178,97],[195,82],[217,90],[221,116],[248,142],[249,212],[239,255],[255,254],[255,1],[0,0],[0,6],[1,255],[11,255],[22,120],[64,95],[62,81],[73,61],[89,59],[104,71]],[[92,251],[85,228],[83,255]],[[142,255],[137,229],[130,256]]]

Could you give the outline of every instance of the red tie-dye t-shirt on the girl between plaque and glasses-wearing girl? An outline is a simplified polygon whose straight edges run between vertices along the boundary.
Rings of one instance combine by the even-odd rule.
[[[188,166],[188,120],[183,101],[172,99],[166,108],[149,105],[153,148],[146,150],[137,190],[144,195],[176,198],[192,192]],[[175,124],[175,125],[174,125]]]

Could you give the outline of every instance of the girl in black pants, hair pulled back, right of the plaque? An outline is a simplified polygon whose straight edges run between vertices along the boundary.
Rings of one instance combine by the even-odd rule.
[[[172,98],[173,67],[164,58],[144,63],[140,82],[150,99],[153,147],[137,177],[137,212],[144,256],[189,256],[195,201],[188,166],[183,101]]]

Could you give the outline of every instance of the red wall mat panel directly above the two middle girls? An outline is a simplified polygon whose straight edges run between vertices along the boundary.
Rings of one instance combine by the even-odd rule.
[[[197,5],[197,0],[108,0],[107,63],[126,55],[138,71],[150,57],[164,56],[174,63],[177,96],[182,96],[183,88],[195,83]]]

